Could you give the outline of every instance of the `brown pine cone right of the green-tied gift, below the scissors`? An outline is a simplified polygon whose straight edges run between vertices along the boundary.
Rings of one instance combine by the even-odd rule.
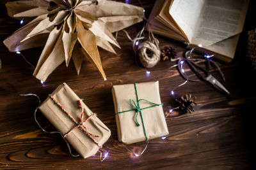
[[[195,103],[195,97],[191,96],[191,94],[185,94],[180,97],[178,102],[180,103],[180,109],[189,113],[195,111],[193,106],[197,106]]]

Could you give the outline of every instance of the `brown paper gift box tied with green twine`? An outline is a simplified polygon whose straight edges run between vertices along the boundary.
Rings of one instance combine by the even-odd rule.
[[[159,82],[136,83],[138,99],[146,99],[152,103],[160,104]],[[137,103],[136,90],[134,84],[114,85],[112,88],[115,113],[134,109],[130,104],[130,99]],[[140,108],[146,108],[152,104],[140,101]],[[154,139],[169,134],[162,106],[154,106],[141,110],[143,122],[148,139]],[[145,141],[145,134],[138,115],[138,126],[135,122],[136,111],[116,114],[116,125],[118,139],[125,144]]]

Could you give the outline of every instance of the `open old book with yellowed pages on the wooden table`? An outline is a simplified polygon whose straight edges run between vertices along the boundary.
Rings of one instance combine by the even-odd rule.
[[[230,62],[249,0],[157,0],[146,28]]]

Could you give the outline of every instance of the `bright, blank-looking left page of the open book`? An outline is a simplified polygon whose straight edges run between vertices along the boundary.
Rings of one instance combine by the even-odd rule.
[[[169,13],[180,29],[186,34],[189,43],[196,31],[196,24],[203,9],[205,0],[173,0]]]

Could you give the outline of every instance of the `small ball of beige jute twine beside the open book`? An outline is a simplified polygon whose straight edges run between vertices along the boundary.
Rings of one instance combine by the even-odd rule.
[[[161,59],[161,52],[159,46],[156,46],[150,41],[145,41],[138,48],[138,56],[141,64],[144,67],[154,67]]]

